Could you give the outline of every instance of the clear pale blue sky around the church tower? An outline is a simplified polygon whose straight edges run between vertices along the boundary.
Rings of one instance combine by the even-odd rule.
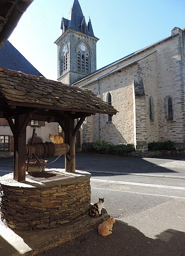
[[[97,43],[97,69],[185,27],[184,0],[79,0],[90,16]],[[34,0],[9,40],[48,79],[57,79],[57,46],[62,17],[73,0]]]

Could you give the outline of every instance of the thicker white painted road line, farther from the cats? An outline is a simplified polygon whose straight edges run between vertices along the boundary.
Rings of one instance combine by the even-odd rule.
[[[177,186],[166,186],[166,185],[156,185],[156,184],[137,183],[137,182],[128,182],[128,181],[116,181],[116,180],[101,180],[101,179],[93,179],[93,178],[91,178],[90,180],[96,181],[96,182],[115,183],[115,184],[133,185],[133,186],[158,187],[158,188],[170,188],[170,189],[177,189],[177,190],[185,190],[185,187],[177,187]]]

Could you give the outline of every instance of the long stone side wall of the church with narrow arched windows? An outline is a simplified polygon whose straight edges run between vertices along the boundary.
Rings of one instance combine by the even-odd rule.
[[[100,127],[98,118],[94,118],[94,121],[92,119],[92,125],[86,127],[86,131],[94,134],[95,141],[100,133],[101,140],[114,144],[172,140],[179,149],[185,148],[184,33],[184,30],[179,29],[173,36],[143,51],[140,50],[133,56],[115,61],[112,65],[91,75],[90,79],[93,81],[91,83],[89,77],[77,83],[77,86],[80,86],[87,82],[84,87],[96,92],[99,84],[100,97],[107,101],[107,93],[110,92],[112,105],[119,111],[112,117],[111,122],[107,121],[107,115],[101,115]],[[118,68],[118,71],[113,72]],[[145,102],[143,99],[133,100],[133,80],[136,82],[143,80]],[[173,120],[168,120],[168,97],[172,98]],[[153,120],[150,119],[150,98]],[[141,103],[142,108],[140,108]],[[145,109],[144,105],[146,105]],[[135,126],[135,123],[138,124],[142,119],[134,123],[134,115],[135,118],[145,116],[144,130],[143,124]]]

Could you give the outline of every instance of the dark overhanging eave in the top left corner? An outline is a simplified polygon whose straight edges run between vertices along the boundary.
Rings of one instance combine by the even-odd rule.
[[[22,14],[34,0],[0,1],[0,48],[9,38]]]

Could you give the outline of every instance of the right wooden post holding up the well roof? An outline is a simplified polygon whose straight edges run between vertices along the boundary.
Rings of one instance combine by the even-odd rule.
[[[64,121],[65,143],[70,145],[70,151],[65,155],[65,172],[75,173],[75,138],[73,136],[75,119],[68,117]]]

